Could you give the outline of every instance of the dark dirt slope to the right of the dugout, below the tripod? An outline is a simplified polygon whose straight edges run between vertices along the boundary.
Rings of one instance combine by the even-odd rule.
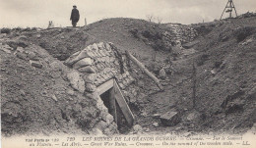
[[[194,25],[201,37],[197,51],[185,59],[172,61],[165,91],[145,97],[140,116],[154,132],[221,131],[240,132],[250,128],[255,117],[256,18]],[[200,30],[202,30],[200,32]],[[185,51],[186,49],[184,49]],[[193,97],[193,63],[196,68],[196,96]],[[193,99],[196,105],[193,108]],[[157,109],[157,110],[156,110]],[[174,127],[154,127],[154,114],[171,109],[182,113]],[[149,123],[152,122],[152,123]]]

